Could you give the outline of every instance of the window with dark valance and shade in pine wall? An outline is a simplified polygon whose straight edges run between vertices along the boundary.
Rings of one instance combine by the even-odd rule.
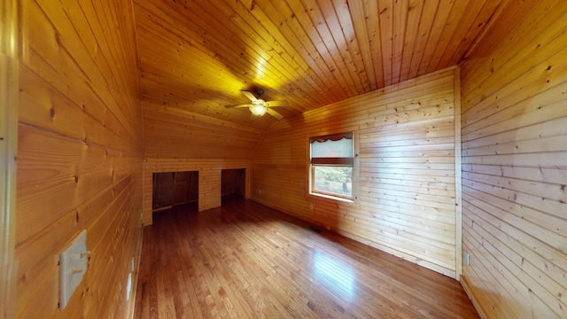
[[[355,152],[353,132],[309,138],[309,192],[354,199]]]

